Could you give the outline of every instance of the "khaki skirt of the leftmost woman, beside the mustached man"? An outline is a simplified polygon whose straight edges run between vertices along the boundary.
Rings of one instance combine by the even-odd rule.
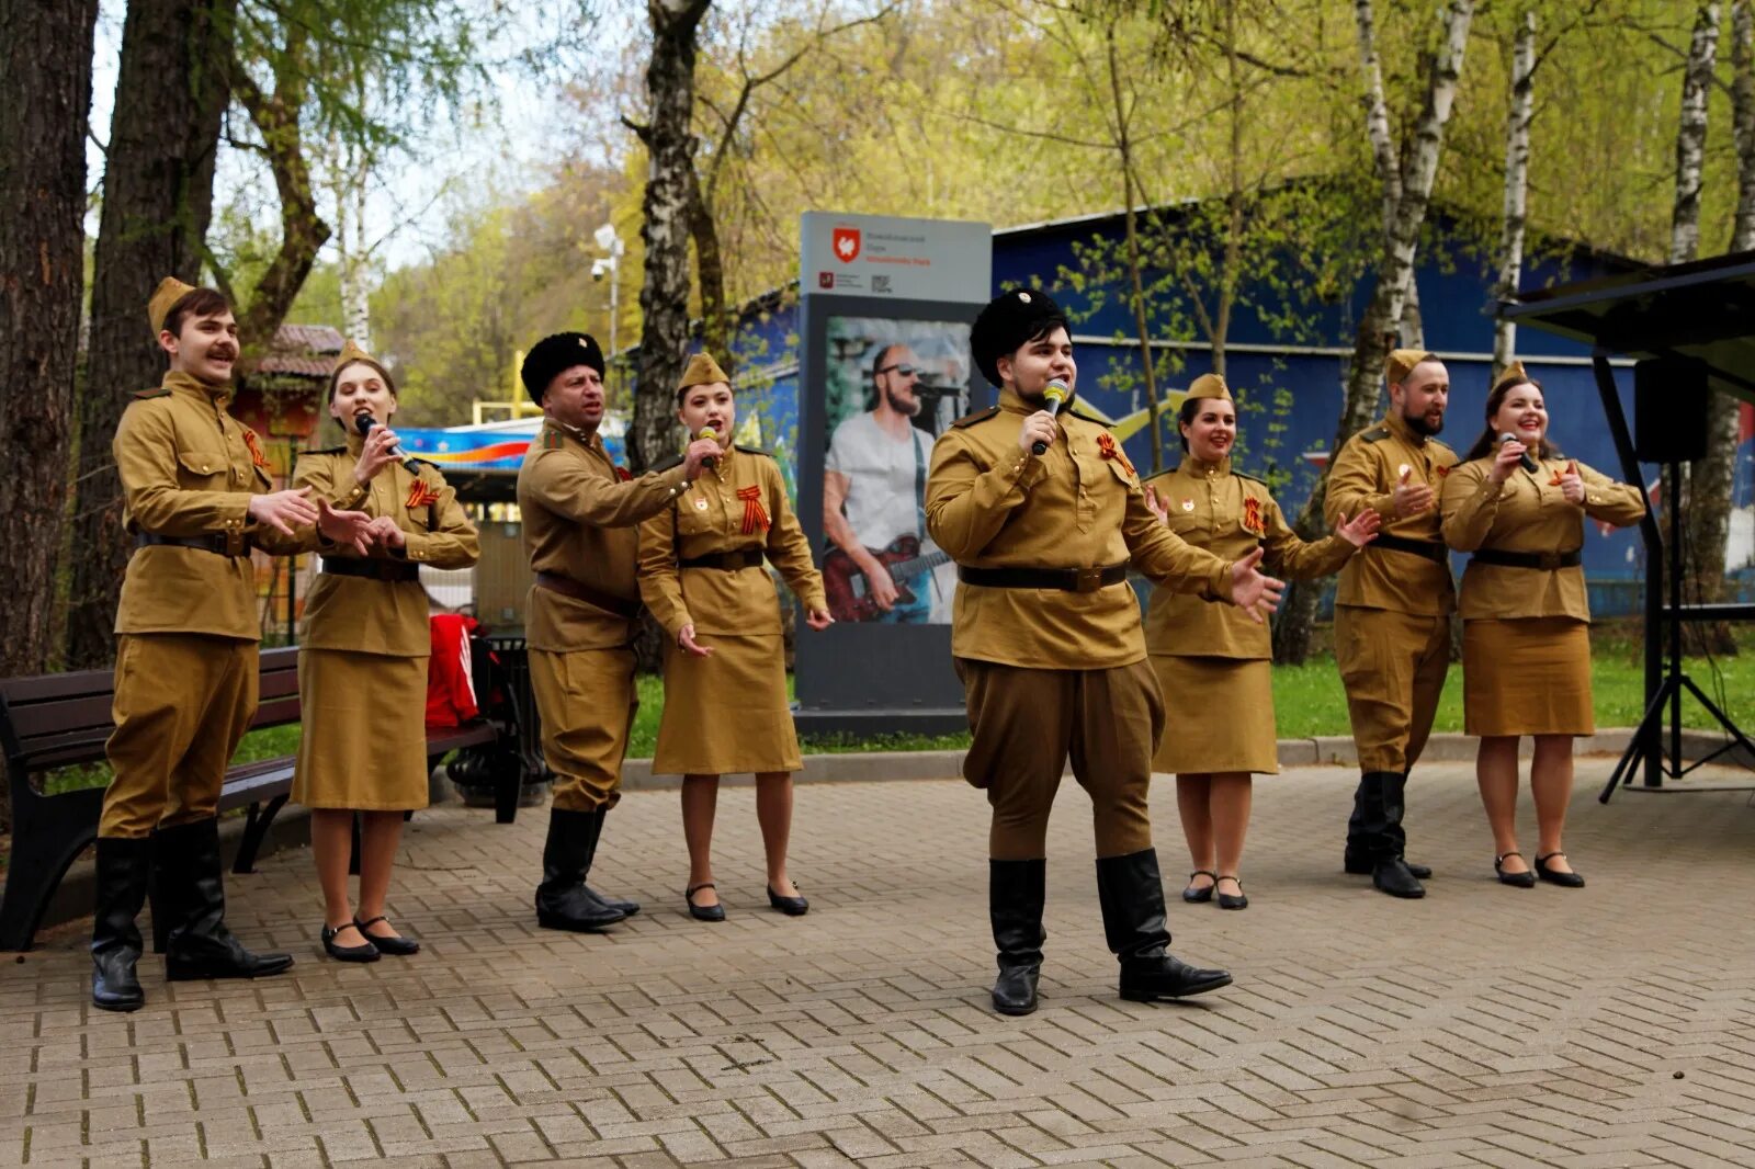
[[[305,807],[426,807],[426,658],[298,651],[298,769]]]

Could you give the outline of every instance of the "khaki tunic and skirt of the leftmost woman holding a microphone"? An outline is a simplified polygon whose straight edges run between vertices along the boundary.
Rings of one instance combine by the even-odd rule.
[[[432,463],[390,463],[360,484],[353,472],[365,439],[300,456],[293,486],[342,511],[390,516],[405,548],[374,548],[374,567],[430,563],[467,569],[476,525]],[[353,548],[312,541],[325,569],[358,562]],[[342,565],[347,567],[347,565]],[[432,653],[426,590],[411,579],[323,570],[305,599],[298,648],[304,721],[293,800],[309,807],[405,811],[426,806],[426,660]]]

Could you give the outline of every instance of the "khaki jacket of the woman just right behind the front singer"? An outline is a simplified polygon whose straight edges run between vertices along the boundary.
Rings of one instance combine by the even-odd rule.
[[[1279,513],[1267,484],[1193,455],[1176,470],[1146,479],[1169,511],[1171,532],[1225,562],[1265,548],[1262,572],[1309,581],[1337,572],[1357,548],[1339,535],[1304,542]],[[1153,590],[1146,609],[1146,649],[1185,658],[1271,658],[1272,634],[1236,606],[1214,606],[1169,590]]]

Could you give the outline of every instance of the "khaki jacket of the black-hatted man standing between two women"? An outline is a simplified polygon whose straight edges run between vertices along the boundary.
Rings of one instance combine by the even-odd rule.
[[[628,479],[590,439],[546,421],[518,469],[518,509],[534,572],[555,572],[611,597],[637,602],[635,525],[683,491],[683,467]],[[586,600],[534,584],[525,607],[532,649],[612,649],[634,639],[634,621]]]

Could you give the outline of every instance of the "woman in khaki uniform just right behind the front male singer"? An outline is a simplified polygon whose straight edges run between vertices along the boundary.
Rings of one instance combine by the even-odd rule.
[[[1257,546],[1264,570],[1309,581],[1337,572],[1371,542],[1378,513],[1362,509],[1334,535],[1304,542],[1286,525],[1267,484],[1230,467],[1237,411],[1218,374],[1197,377],[1178,420],[1181,465],[1146,481],[1146,502],[1176,535],[1223,560]],[[1193,872],[1183,900],[1211,900],[1244,909],[1239,881],[1243,837],[1250,830],[1251,774],[1279,774],[1274,730],[1272,639],[1265,625],[1234,606],[1214,606],[1167,588],[1151,592],[1146,651],[1158,686],[1200,702],[1167,702],[1167,720],[1153,771],[1176,774],[1176,807],[1188,839]],[[1211,711],[1225,718],[1211,718]]]

